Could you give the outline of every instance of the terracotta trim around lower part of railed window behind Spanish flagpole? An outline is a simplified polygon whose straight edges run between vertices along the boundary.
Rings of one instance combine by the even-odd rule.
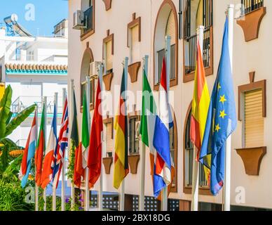
[[[185,20],[185,14],[184,14],[184,20]],[[186,40],[184,39],[184,42]],[[185,65],[185,44],[183,44],[183,65]],[[191,82],[195,79],[195,71],[186,74],[185,66],[183,66],[183,82]],[[210,75],[213,75],[213,26],[210,27],[210,67],[205,68],[205,76],[208,77]]]

